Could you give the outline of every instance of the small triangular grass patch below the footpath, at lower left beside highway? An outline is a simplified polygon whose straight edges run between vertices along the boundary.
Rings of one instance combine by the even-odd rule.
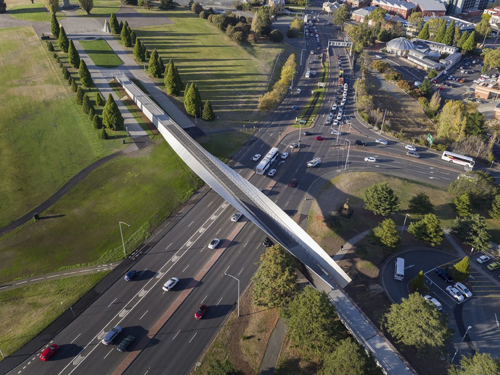
[[[67,277],[0,292],[3,354],[10,355],[25,345],[107,273]]]

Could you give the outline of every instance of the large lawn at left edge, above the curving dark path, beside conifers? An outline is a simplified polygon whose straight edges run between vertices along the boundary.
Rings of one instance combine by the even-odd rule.
[[[0,226],[52,195],[85,166],[112,153],[74,102],[60,68],[32,27],[0,29]],[[37,58],[23,59],[19,55]]]

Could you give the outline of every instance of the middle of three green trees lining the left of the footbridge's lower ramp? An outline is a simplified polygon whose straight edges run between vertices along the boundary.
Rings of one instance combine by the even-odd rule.
[[[339,338],[335,306],[324,291],[304,287],[283,311],[288,337],[300,353],[321,356]]]

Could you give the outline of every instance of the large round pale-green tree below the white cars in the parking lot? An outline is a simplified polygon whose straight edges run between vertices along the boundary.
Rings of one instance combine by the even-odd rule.
[[[396,342],[417,350],[439,350],[451,341],[448,320],[447,314],[438,311],[422,295],[411,293],[408,298],[401,298],[400,303],[390,305],[382,325]]]

